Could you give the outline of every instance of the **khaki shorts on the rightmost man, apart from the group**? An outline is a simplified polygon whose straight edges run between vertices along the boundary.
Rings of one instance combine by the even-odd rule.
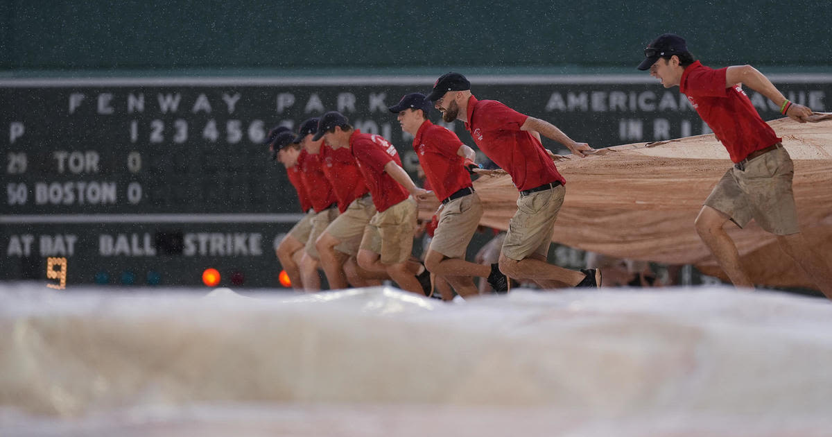
[[[745,171],[732,166],[717,182],[705,205],[730,216],[740,227],[753,218],[772,234],[796,234],[800,226],[791,188],[794,176],[789,152],[777,147],[748,161]]]

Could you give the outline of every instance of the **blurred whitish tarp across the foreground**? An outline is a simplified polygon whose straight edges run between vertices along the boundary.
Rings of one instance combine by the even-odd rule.
[[[0,435],[832,432],[832,305],[0,286]]]

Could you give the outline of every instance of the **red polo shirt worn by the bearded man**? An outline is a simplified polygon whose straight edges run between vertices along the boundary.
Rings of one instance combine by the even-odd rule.
[[[531,132],[520,130],[527,118],[496,100],[471,96],[465,128],[480,150],[508,171],[518,191],[554,181],[566,184],[543,145]]]

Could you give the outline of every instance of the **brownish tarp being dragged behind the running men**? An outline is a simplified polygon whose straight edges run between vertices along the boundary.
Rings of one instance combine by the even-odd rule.
[[[832,117],[769,123],[795,162],[794,191],[800,227],[815,252],[832,263]],[[597,145],[595,145],[597,146]],[[694,220],[716,182],[732,165],[713,134],[602,149],[597,156],[564,156],[557,169],[567,194],[552,241],[607,256],[666,264],[693,264],[726,276],[701,242]],[[481,224],[507,229],[518,191],[508,175],[481,176]],[[429,218],[438,204],[425,202]],[[755,222],[727,226],[752,281],[765,286],[813,288],[775,236]]]

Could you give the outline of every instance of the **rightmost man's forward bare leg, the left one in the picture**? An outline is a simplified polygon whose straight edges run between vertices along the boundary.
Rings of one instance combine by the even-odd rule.
[[[736,250],[734,241],[725,230],[725,224],[729,220],[729,216],[711,206],[702,206],[699,215],[696,216],[696,232],[734,286],[754,288],[740,264],[740,252]]]

